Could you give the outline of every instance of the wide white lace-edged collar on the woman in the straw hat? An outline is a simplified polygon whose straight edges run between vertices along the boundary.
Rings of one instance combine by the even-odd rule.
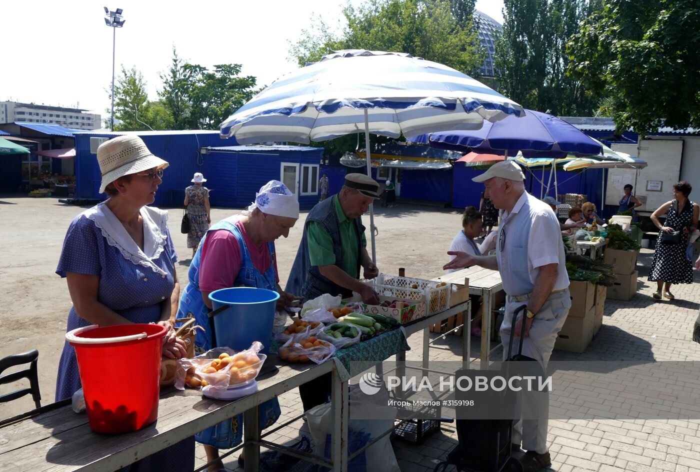
[[[158,208],[141,207],[141,218],[144,221],[144,250],[141,251],[119,218],[105,203],[95,205],[84,211],[83,215],[94,221],[95,226],[102,230],[107,244],[119,249],[122,256],[134,265],[143,265],[160,275],[167,275],[154,261],[160,257],[167,241],[168,212]]]

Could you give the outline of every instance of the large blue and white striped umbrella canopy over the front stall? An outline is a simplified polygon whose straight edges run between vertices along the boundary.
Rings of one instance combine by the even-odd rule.
[[[365,131],[398,138],[522,114],[519,104],[437,62],[342,50],[269,85],[221,123],[221,136],[240,144],[308,144]]]

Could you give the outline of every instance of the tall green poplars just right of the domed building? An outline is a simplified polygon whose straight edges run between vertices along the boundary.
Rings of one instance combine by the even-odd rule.
[[[496,42],[499,91],[555,115],[591,114],[600,98],[567,74],[566,44],[599,0],[505,0]]]

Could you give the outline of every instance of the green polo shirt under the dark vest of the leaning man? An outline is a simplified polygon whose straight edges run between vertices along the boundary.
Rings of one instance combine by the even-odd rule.
[[[335,204],[335,214],[338,216],[338,229],[340,232],[340,244],[342,244],[343,263],[340,268],[351,277],[358,278],[358,242],[362,242],[362,246],[367,246],[365,233],[360,237],[357,234],[357,228],[354,219],[345,216],[343,208],[340,206],[340,201],[337,195],[332,196],[333,204]],[[311,221],[307,227],[307,239],[309,241],[309,261],[311,265],[333,265],[335,264],[335,253],[333,252],[333,240],[330,238],[328,231],[325,230],[318,221]]]

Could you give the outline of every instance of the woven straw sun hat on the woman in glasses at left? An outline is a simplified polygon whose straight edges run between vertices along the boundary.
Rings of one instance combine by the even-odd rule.
[[[97,148],[97,163],[102,174],[99,193],[103,193],[106,186],[121,176],[136,174],[153,167],[165,169],[169,165],[167,161],[148,151],[144,141],[134,135],[116,137],[100,144]]]

